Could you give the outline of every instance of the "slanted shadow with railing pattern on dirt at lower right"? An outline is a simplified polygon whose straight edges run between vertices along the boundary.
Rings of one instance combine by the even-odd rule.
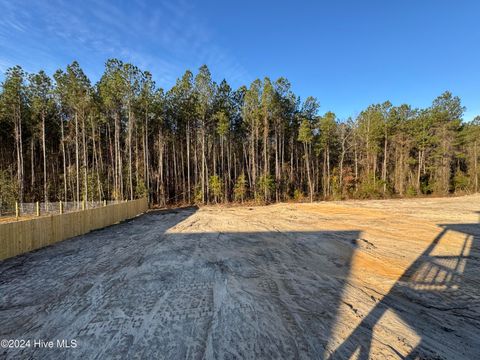
[[[397,352],[400,358],[436,359],[443,358],[445,354],[449,355],[448,358],[480,358],[477,338],[480,318],[472,309],[478,306],[480,297],[480,224],[439,226],[442,230],[428,248],[331,354],[330,359],[349,359],[354,355],[361,360],[372,358],[374,327],[387,311],[393,311],[419,337],[418,345],[406,356]],[[440,241],[448,232],[464,235],[456,255],[440,255],[437,252]],[[472,313],[470,310],[473,310]],[[462,335],[456,334],[459,329],[465,330]],[[394,347],[391,350],[396,352]],[[443,355],[438,355],[438,352]]]

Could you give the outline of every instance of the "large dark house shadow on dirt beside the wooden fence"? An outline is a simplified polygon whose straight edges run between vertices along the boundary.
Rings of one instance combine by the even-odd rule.
[[[195,211],[0,263],[0,338],[78,343],[0,357],[322,357],[360,233],[169,233]]]

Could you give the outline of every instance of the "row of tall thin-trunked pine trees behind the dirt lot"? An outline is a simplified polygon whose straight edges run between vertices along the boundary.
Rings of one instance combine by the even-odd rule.
[[[386,101],[320,114],[285,78],[232,89],[207,66],[164,91],[110,59],[92,84],[73,62],[8,69],[0,89],[0,205],[148,196],[274,202],[478,192],[480,117],[445,92],[425,109]]]

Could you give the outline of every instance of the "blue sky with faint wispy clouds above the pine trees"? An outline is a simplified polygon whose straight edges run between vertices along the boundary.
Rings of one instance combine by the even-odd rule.
[[[287,77],[341,118],[390,100],[428,106],[444,90],[480,114],[480,1],[0,0],[0,71],[109,57],[170,87],[206,63],[234,87]]]

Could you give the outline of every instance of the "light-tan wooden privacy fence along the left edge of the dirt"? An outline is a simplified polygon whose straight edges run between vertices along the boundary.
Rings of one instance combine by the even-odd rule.
[[[138,199],[95,209],[0,223],[0,260],[113,225],[147,209],[147,199]]]

